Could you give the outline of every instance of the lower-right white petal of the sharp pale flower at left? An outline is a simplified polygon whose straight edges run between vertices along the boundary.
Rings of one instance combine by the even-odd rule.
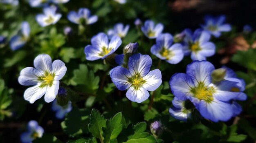
[[[56,95],[58,94],[58,88],[59,88],[60,81],[53,81],[52,86],[47,86],[47,90],[45,93],[45,101],[47,103],[54,101],[56,98]]]

